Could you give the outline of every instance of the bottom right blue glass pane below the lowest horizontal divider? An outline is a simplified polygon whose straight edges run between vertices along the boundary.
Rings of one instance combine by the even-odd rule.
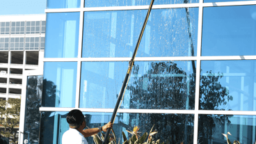
[[[231,142],[255,143],[256,116],[255,115],[199,115],[198,143],[227,143],[223,134]]]

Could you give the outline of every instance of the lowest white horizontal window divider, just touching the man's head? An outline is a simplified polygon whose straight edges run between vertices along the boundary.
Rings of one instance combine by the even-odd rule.
[[[39,111],[71,111],[75,108],[40,107]],[[86,109],[82,112],[113,113],[114,109]],[[206,110],[167,110],[167,109],[119,109],[118,113],[169,113],[169,114],[211,114],[211,115],[256,115],[254,111],[206,111]]]

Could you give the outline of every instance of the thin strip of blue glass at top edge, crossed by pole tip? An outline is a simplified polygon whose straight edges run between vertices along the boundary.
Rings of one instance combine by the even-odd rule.
[[[155,0],[154,5],[177,4],[177,3],[198,3],[199,0]],[[109,7],[109,6],[143,6],[150,5],[151,0],[85,0],[85,7]]]

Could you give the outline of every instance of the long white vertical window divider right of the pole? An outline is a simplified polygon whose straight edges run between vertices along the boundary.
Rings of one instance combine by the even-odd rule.
[[[195,78],[195,115],[194,115],[194,138],[193,143],[198,143],[198,113],[199,113],[199,93],[200,93],[200,70],[201,70],[201,42],[202,42],[202,5],[203,0],[199,1],[199,13],[198,13],[198,47],[196,56],[196,78]]]

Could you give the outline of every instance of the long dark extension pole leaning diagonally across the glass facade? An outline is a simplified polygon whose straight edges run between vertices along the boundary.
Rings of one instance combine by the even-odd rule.
[[[119,93],[119,95],[118,95],[118,101],[117,101],[116,104],[115,104],[115,109],[114,109],[113,115],[112,115],[112,117],[111,117],[111,123],[113,123],[114,120],[115,120],[115,115],[116,115],[116,113],[118,112],[118,108],[119,108],[119,105],[120,105],[120,101],[121,101],[121,99],[122,99],[122,97],[123,97],[123,95],[124,95],[124,90],[125,90],[125,88],[126,88],[126,86],[127,86],[127,81],[128,81],[128,79],[129,79],[129,75],[131,74],[131,70],[132,70],[132,67],[133,67],[133,65],[134,65],[134,58],[135,58],[135,56],[136,56],[136,54],[137,54],[138,46],[139,46],[140,43],[141,43],[141,38],[142,38],[142,36],[143,36],[144,30],[145,30],[145,27],[146,27],[146,24],[147,24],[148,17],[150,17],[150,11],[151,11],[151,9],[152,9],[153,3],[154,3],[154,0],[151,1],[151,3],[150,3],[150,8],[147,10],[147,16],[146,16],[146,18],[145,18],[143,27],[142,27],[142,29],[141,29],[141,33],[140,33],[140,35],[139,35],[139,37],[138,37],[138,41],[137,41],[136,47],[135,47],[135,49],[134,49],[134,54],[133,54],[132,57],[131,57],[131,61],[129,61],[129,67],[128,67],[128,70],[127,70],[127,74],[126,74],[126,76],[125,76],[124,82],[122,83],[122,88],[121,88],[120,93]],[[103,141],[102,144],[105,144],[105,143],[106,143],[106,139],[109,137],[109,132],[110,132],[110,130],[111,130],[111,129],[108,129],[108,130],[106,131],[105,138],[104,138],[104,141]]]

